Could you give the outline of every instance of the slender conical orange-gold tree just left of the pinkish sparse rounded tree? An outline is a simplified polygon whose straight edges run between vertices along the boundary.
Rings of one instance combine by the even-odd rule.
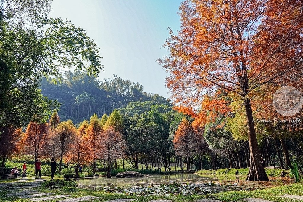
[[[102,132],[101,120],[98,118],[97,114],[94,114],[89,120],[89,125],[86,128],[85,136],[83,137],[83,141],[87,146],[87,150],[90,151],[91,160],[93,161],[93,173],[95,173],[96,160],[100,158],[100,152],[103,149],[100,146]]]

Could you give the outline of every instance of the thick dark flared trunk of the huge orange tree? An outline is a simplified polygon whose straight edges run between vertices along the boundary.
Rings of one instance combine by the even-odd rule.
[[[255,125],[253,122],[252,110],[250,99],[244,99],[244,106],[248,122],[248,141],[249,141],[249,152],[250,152],[250,167],[248,171],[247,181],[268,181],[267,174],[265,173],[264,167],[261,164],[260,151],[258,148],[258,142],[255,132]]]

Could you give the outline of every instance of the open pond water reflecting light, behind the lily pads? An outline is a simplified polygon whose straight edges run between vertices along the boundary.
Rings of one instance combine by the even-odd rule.
[[[176,183],[203,183],[209,181],[217,181],[218,177],[212,175],[199,175],[196,173],[181,173],[181,174],[169,174],[169,175],[151,175],[149,177],[133,177],[133,178],[90,178],[77,180],[80,187],[100,189],[103,187],[134,187],[144,185],[160,185],[169,184],[171,182]],[[220,179],[222,180],[222,179]],[[226,179],[228,180],[228,179]]]

